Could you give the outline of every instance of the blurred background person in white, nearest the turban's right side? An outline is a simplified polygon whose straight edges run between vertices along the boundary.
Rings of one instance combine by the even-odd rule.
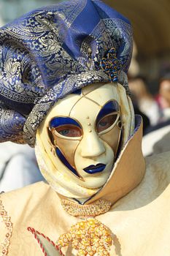
[[[139,110],[150,119],[150,125],[158,124],[161,120],[161,109],[148,91],[144,78],[140,76],[131,78],[129,80],[129,89],[136,99]]]

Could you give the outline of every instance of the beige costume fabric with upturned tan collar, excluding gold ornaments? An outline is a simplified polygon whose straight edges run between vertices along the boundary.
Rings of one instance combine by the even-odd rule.
[[[144,174],[141,138],[142,127],[126,144],[113,176],[93,197],[93,200],[104,198],[112,203],[107,213],[96,217],[114,234],[111,256],[170,255],[170,153],[148,157]],[[0,207],[1,256],[42,256],[39,244],[27,227],[33,227],[55,242],[80,221],[63,210],[61,199],[45,182],[2,194]],[[10,219],[4,218],[4,211]],[[10,225],[7,227],[9,222],[13,227],[11,233]],[[75,255],[71,248],[64,253]]]

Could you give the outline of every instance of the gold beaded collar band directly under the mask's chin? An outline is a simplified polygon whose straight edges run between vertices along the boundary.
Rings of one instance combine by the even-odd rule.
[[[111,207],[111,203],[103,199],[96,200],[93,203],[83,206],[63,199],[61,200],[61,204],[68,214],[75,217],[96,217],[100,214],[105,214]]]

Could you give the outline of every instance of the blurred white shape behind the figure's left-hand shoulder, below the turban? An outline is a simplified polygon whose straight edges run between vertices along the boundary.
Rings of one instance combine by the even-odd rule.
[[[0,191],[10,191],[43,180],[34,149],[12,142],[0,144]]]

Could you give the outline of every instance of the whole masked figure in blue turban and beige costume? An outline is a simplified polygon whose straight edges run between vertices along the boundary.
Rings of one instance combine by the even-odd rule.
[[[142,156],[129,21],[74,0],[0,33],[0,140],[35,147],[47,181],[1,194],[0,255],[169,256],[169,153]]]

